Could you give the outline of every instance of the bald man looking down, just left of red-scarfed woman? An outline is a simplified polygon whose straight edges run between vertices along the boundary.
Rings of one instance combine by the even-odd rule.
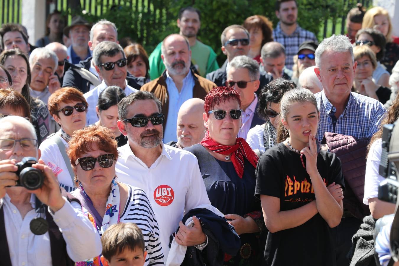
[[[177,142],[171,141],[166,145],[183,149],[201,142],[205,136],[203,124],[204,100],[193,98],[186,100],[180,107],[177,115]]]

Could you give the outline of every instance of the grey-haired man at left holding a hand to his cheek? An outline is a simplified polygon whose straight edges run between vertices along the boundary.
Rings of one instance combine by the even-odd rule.
[[[30,54],[29,66],[30,95],[47,104],[51,93],[61,87],[57,75],[54,74],[58,67],[58,57],[47,48],[36,48]]]

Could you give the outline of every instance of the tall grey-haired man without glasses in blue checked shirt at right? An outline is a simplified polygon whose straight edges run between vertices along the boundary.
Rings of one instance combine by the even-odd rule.
[[[316,137],[322,140],[326,132],[338,133],[344,136],[341,138],[356,138],[356,141],[366,142],[377,130],[379,124],[385,115],[385,108],[378,100],[367,96],[351,92],[354,73],[357,62],[354,61],[353,47],[350,40],[345,35],[332,35],[320,43],[316,49],[316,68],[314,69],[318,79],[323,85],[323,90],[316,93],[316,100],[320,110],[320,121]],[[363,140],[361,140],[363,139]],[[352,143],[358,145],[355,142]],[[333,143],[333,145],[336,145]],[[356,147],[356,151],[350,146],[346,146],[346,153],[351,153],[354,158],[362,158],[361,148]],[[341,147],[330,148],[337,150]],[[360,154],[359,154],[360,153]],[[351,246],[352,236],[359,229],[363,211],[363,193],[364,186],[359,186],[364,182],[364,175],[354,175],[348,172],[346,164],[351,164],[352,171],[365,171],[365,167],[356,166],[348,158],[342,157],[342,168],[346,171],[346,191],[344,194],[344,216],[340,225],[337,227],[336,243],[336,265],[348,265],[346,258]],[[353,170],[353,167],[357,167]],[[356,186],[353,184],[356,183]],[[352,197],[347,197],[348,195]],[[355,216],[356,215],[356,216]]]

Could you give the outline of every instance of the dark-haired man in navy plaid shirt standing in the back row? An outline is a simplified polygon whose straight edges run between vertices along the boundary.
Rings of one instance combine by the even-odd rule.
[[[296,23],[298,7],[295,0],[277,0],[276,16],[280,21],[273,30],[273,39],[284,45],[286,49],[285,66],[292,69],[293,56],[298,52],[299,45],[308,40],[317,42],[317,39],[314,33],[302,29]]]

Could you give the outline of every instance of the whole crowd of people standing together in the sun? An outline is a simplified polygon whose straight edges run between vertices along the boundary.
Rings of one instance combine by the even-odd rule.
[[[191,6],[151,53],[104,19],[55,11],[35,46],[3,24],[0,264],[393,265],[389,14],[358,4],[320,43],[295,0],[275,14],[227,26],[221,67]]]

